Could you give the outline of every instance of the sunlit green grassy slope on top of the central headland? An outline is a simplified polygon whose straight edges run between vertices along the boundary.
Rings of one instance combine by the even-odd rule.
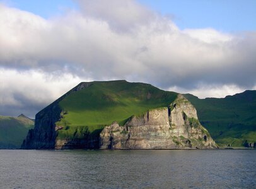
[[[71,93],[59,105],[64,112],[56,125],[58,137],[78,135],[78,132],[94,132],[113,121],[124,123],[132,115],[151,108],[168,106],[177,93],[163,91],[150,84],[127,81],[95,81],[88,88]],[[84,129],[86,127],[86,129]]]

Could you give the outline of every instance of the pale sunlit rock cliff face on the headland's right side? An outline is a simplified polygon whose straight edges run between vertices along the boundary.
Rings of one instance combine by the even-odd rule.
[[[117,122],[100,133],[100,149],[215,148],[202,127],[194,106],[182,95],[169,107],[131,117],[124,126]]]

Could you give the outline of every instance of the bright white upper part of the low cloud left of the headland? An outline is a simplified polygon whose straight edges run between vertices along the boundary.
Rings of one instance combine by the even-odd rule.
[[[36,70],[19,72],[0,69],[1,105],[9,105],[10,103],[20,105],[20,102],[16,101],[13,96],[15,93],[32,101],[50,103],[80,82],[90,81],[90,79],[80,79],[69,73],[55,72],[54,74],[45,74],[45,72]]]

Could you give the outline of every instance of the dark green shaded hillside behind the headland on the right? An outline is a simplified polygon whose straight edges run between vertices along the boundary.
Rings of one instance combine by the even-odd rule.
[[[256,91],[245,91],[226,98],[185,97],[197,109],[202,125],[220,146],[240,147],[256,142]]]

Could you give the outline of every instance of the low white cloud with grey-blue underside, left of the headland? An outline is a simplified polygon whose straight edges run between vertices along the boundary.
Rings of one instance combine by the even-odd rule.
[[[25,113],[34,117],[36,111],[55,101],[67,91],[88,79],[69,73],[46,74],[38,70],[0,69],[0,115]],[[32,108],[32,112],[26,110]]]

